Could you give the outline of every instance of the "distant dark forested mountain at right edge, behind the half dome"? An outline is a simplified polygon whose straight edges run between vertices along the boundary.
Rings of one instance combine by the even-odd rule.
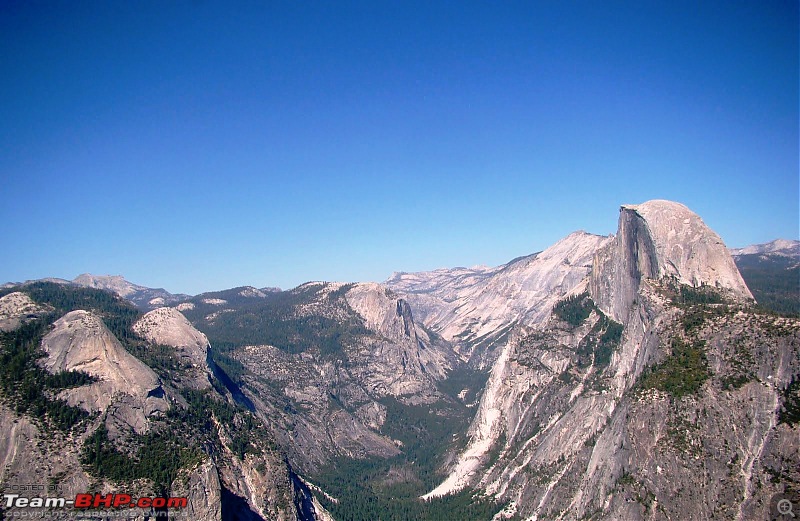
[[[731,254],[760,306],[800,316],[800,241],[778,239]]]

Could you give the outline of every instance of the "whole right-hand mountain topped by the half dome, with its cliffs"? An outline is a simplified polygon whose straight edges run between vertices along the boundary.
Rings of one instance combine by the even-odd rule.
[[[474,487],[531,519],[766,517],[800,483],[782,409],[800,322],[751,311],[722,241],[676,203],[623,206],[587,278],[512,332],[424,497]]]

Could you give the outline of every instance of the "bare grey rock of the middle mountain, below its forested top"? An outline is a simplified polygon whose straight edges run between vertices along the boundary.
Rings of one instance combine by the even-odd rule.
[[[341,335],[335,356],[280,345],[237,349],[237,360],[252,373],[245,392],[256,410],[271,418],[274,435],[301,468],[318,468],[336,456],[397,455],[397,443],[382,432],[384,401],[422,406],[451,400],[437,382],[460,361],[385,286],[314,282],[294,291],[296,303],[282,311],[290,320],[358,326]]]

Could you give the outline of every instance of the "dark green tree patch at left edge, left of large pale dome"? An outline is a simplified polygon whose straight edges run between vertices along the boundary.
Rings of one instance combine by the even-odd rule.
[[[69,432],[89,414],[54,395],[94,379],[78,371],[51,375],[36,363],[44,356],[40,345],[53,320],[55,316],[51,314],[14,331],[0,333],[0,390],[3,402],[17,414],[27,414],[45,425]]]

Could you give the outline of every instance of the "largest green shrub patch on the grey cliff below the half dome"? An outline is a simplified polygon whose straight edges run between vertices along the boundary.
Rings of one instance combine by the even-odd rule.
[[[694,394],[711,376],[705,354],[705,342],[687,342],[674,337],[672,353],[647,371],[640,380],[643,389],[658,389],[676,398]]]

